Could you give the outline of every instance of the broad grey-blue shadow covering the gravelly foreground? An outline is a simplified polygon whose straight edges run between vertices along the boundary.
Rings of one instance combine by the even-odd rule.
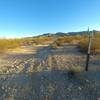
[[[61,70],[0,75],[0,100],[97,100],[100,73]]]

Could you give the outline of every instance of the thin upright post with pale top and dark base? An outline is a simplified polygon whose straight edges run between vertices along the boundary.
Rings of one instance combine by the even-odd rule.
[[[88,42],[88,51],[87,51],[87,59],[86,59],[85,71],[88,71],[90,53],[91,53],[91,45],[92,45],[92,37],[93,37],[93,31],[89,32],[89,28],[88,28],[88,35],[89,35],[89,42]]]

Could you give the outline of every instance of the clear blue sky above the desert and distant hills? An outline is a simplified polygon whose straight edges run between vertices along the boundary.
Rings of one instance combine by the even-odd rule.
[[[100,0],[0,0],[0,37],[100,30]]]

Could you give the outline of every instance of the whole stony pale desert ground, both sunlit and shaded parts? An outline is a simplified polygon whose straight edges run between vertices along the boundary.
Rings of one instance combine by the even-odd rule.
[[[0,100],[97,100],[100,55],[91,56],[89,72],[66,71],[73,66],[84,70],[85,61],[86,54],[72,44],[9,50],[0,55]]]

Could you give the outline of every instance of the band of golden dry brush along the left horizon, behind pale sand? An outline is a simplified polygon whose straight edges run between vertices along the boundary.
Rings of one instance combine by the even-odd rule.
[[[33,45],[33,44],[45,44],[53,41],[53,37],[33,37],[33,38],[22,38],[22,39],[0,39],[0,53],[20,47],[22,45]]]

